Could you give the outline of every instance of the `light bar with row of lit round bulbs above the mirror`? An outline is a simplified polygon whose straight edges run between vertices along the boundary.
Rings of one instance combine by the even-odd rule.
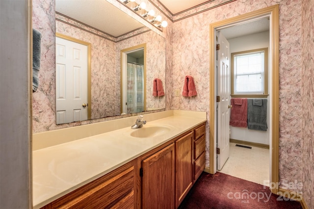
[[[136,14],[141,16],[144,20],[152,24],[153,26],[157,27],[159,30],[162,31],[162,27],[168,26],[167,21],[161,22],[161,16],[157,15],[155,17],[155,11],[153,9],[147,11],[146,3],[141,2],[140,4],[136,3],[135,0],[120,0],[125,6],[129,7],[133,10]]]

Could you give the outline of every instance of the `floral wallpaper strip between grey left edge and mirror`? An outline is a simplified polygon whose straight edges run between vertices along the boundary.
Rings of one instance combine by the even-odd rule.
[[[36,133],[51,130],[55,124],[55,96],[51,96],[55,91],[55,4],[54,0],[32,0],[32,6],[32,27],[42,34],[39,86],[32,97],[33,132]]]

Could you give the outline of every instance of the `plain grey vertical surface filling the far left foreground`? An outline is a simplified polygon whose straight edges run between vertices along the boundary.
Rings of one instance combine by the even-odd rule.
[[[31,7],[0,0],[0,209],[31,208]]]

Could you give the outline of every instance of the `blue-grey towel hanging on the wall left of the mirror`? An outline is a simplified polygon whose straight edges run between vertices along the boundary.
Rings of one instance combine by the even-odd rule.
[[[33,28],[33,92],[35,92],[39,85],[39,69],[41,60],[41,33]]]

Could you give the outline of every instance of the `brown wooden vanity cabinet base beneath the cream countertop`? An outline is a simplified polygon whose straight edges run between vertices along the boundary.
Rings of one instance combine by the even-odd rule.
[[[205,168],[205,123],[43,209],[178,208]]]

